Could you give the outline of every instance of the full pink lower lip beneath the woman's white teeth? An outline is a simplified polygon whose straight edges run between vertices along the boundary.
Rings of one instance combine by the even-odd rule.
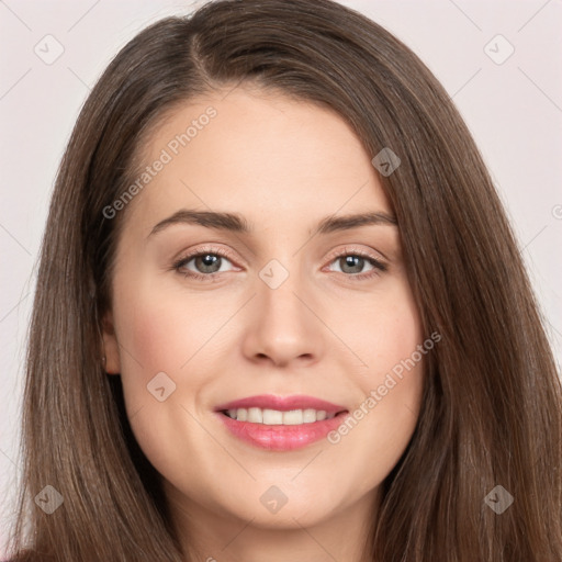
[[[341,425],[348,412],[342,412],[330,419],[300,424],[295,426],[254,424],[238,422],[218,412],[226,428],[236,437],[250,445],[271,451],[294,451],[325,438]]]

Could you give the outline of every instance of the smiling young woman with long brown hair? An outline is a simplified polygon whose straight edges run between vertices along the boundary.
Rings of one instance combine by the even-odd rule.
[[[13,560],[561,560],[561,396],[423,63],[328,0],[214,2],[65,154]]]

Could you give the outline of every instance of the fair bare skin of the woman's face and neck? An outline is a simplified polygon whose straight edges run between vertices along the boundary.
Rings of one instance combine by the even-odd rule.
[[[314,235],[328,215],[392,207],[372,155],[339,115],[248,86],[168,115],[144,161],[209,105],[216,116],[122,211],[106,370],[121,374],[133,432],[162,476],[181,540],[189,536],[202,561],[263,562],[267,552],[268,562],[357,562],[380,484],[416,426],[423,361],[337,445],[259,449],[229,434],[214,407],[306,394],[351,412],[412,356],[424,337],[398,228]],[[252,233],[173,224],[150,235],[180,209],[240,213]],[[210,276],[195,260],[173,269],[209,245],[231,255],[214,281],[186,277]],[[339,258],[353,251],[387,270],[346,267]],[[274,290],[259,277],[271,259],[289,272]],[[159,372],[176,384],[162,402],[147,391]],[[260,502],[272,485],[288,498],[276,514]]]

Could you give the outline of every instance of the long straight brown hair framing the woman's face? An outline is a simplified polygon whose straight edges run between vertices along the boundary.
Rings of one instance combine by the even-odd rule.
[[[193,560],[132,435],[120,378],[100,361],[126,215],[103,210],[134,180],[143,138],[165,112],[241,82],[329,106],[370,155],[389,147],[401,158],[381,182],[424,329],[442,340],[366,560],[562,560],[561,383],[492,180],[428,68],[329,0],[222,0],[164,19],[119,53],[86,101],[42,246],[14,560]],[[35,499],[47,485],[64,498],[52,514]],[[514,498],[501,514],[485,501],[498,485]]]

